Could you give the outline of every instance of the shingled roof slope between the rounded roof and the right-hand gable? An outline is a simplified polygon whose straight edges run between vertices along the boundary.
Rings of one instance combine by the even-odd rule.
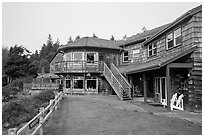
[[[166,28],[169,24],[165,24],[162,26],[159,26],[157,28],[151,29],[151,30],[147,30],[143,33],[138,33],[136,35],[133,35],[131,37],[128,37],[126,41],[124,40],[120,40],[118,41],[118,45],[119,46],[128,46],[130,44],[133,43],[138,43],[138,42],[143,42],[146,39],[150,38],[151,36],[153,36],[154,34],[158,33],[159,31],[161,31],[162,29]]]

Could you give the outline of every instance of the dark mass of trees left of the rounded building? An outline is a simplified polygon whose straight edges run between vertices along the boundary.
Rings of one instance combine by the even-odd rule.
[[[3,86],[22,77],[36,78],[38,73],[42,73],[42,67],[45,73],[49,73],[49,61],[59,46],[59,40],[57,39],[53,43],[52,37],[49,34],[46,44],[43,44],[40,51],[36,50],[34,53],[19,45],[10,48],[3,47]]]

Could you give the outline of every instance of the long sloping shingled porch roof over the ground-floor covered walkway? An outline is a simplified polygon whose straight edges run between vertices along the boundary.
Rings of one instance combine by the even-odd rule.
[[[163,56],[157,57],[154,60],[150,60],[147,62],[139,62],[137,64],[131,64],[128,66],[119,67],[119,71],[121,73],[132,74],[138,72],[144,72],[148,70],[159,69],[169,63],[193,52],[197,46],[188,46],[175,50],[174,52],[169,52]]]

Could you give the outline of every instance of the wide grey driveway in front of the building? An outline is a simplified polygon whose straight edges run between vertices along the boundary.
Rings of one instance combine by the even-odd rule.
[[[202,128],[178,118],[154,115],[109,96],[65,96],[44,127],[50,135],[201,134]]]

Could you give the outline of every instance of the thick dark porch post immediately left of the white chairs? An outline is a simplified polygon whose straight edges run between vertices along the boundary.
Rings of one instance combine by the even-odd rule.
[[[170,79],[170,68],[166,66],[166,86],[167,86],[167,111],[171,111],[170,101],[171,101],[171,79]]]

